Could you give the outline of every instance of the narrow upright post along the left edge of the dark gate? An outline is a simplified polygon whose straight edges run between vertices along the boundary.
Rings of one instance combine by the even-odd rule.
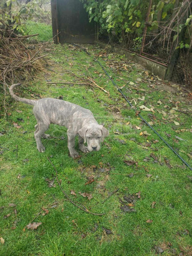
[[[51,17],[52,17],[52,33],[53,33],[53,37],[54,37],[54,43],[59,44],[57,0],[51,0]]]

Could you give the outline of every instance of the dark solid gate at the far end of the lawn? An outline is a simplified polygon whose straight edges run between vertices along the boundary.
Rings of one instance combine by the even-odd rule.
[[[52,0],[51,9],[55,42],[94,42],[94,22],[89,22],[83,3],[79,0]]]

